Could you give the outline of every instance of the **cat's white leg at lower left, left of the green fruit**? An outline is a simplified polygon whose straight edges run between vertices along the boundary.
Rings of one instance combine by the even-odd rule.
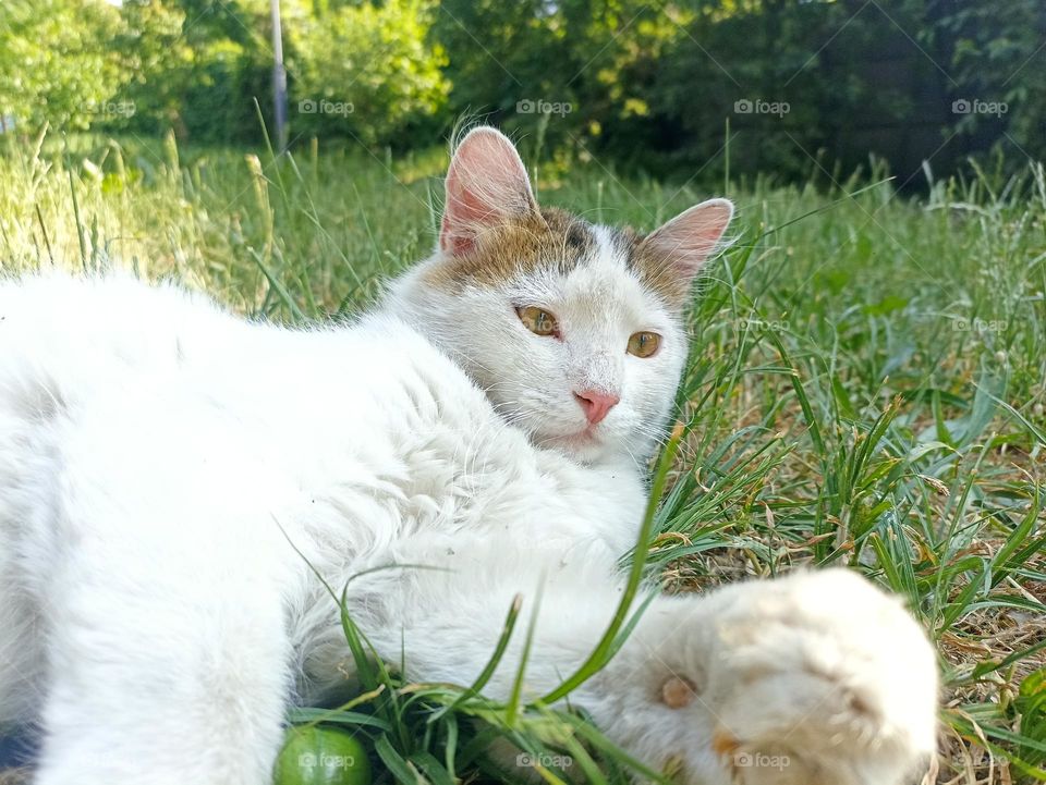
[[[77,419],[37,527],[52,543],[38,785],[268,785],[299,569],[270,463],[235,418],[173,393]]]

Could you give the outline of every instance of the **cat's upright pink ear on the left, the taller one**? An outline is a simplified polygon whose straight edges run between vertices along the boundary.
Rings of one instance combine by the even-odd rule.
[[[465,254],[484,231],[536,212],[526,169],[509,138],[488,126],[470,131],[447,170],[439,247]]]

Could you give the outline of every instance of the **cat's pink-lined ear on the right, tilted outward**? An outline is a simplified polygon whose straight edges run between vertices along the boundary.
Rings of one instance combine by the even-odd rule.
[[[711,256],[733,218],[727,199],[708,199],[684,210],[643,238],[642,247],[688,286]]]

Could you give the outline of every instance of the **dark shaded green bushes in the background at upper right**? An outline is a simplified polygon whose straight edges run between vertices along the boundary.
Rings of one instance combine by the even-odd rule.
[[[1046,156],[1038,0],[1014,0],[1005,14],[974,0],[440,9],[434,34],[450,52],[453,111],[489,112],[521,137],[648,171],[721,175],[728,121],[732,170],[783,179],[827,182],[869,154],[905,177],[926,158],[947,171],[994,145],[1017,164],[1018,147]],[[519,111],[528,99],[550,111]],[[963,114],[952,108],[961,99],[1005,101],[1009,112]],[[739,111],[759,101],[769,111]],[[555,111],[564,102],[569,112]]]

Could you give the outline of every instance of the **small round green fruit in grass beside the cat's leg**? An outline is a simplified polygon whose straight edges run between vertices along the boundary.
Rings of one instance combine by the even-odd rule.
[[[370,785],[367,750],[349,731],[290,727],[273,785]]]

